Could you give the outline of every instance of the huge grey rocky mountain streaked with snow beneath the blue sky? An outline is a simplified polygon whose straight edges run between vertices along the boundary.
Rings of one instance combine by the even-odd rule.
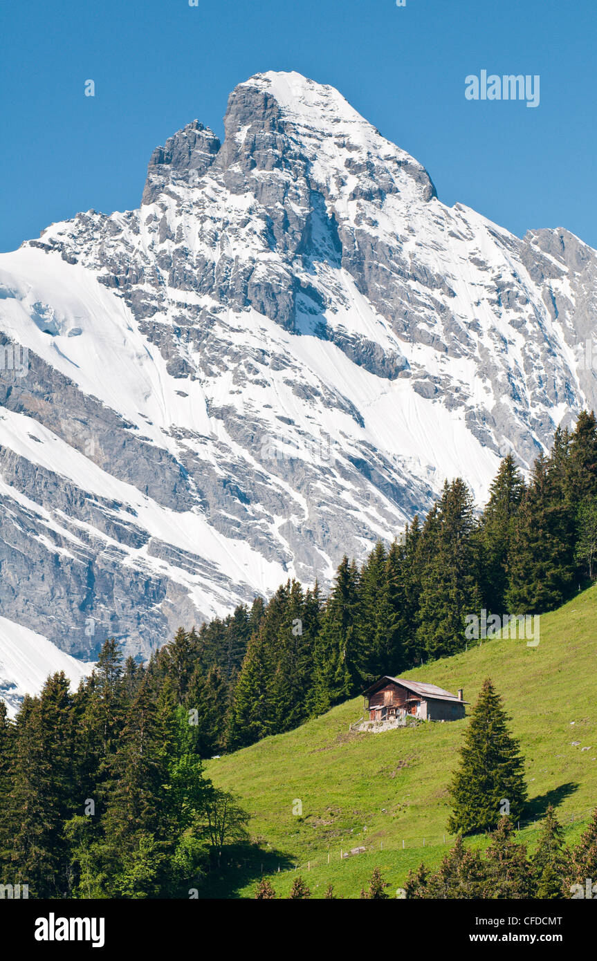
[[[0,256],[3,623],[146,654],[327,582],[595,407],[596,316],[576,236],[448,208],[334,88],[252,77],[223,143],[154,151],[138,209]]]

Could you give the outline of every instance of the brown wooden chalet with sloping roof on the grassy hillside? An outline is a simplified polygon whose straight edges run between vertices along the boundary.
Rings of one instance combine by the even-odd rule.
[[[409,715],[421,721],[458,721],[464,717],[462,689],[458,696],[435,684],[403,678],[380,678],[364,691],[370,721],[392,721]]]

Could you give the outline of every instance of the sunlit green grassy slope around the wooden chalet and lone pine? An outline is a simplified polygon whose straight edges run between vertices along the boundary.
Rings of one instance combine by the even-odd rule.
[[[492,678],[526,759],[530,803],[522,838],[533,847],[534,820],[552,801],[567,840],[576,840],[597,804],[597,586],[541,617],[536,648],[524,640],[484,641],[403,676],[453,692],[463,687],[468,702]],[[279,895],[296,876],[294,865],[313,896],[322,897],[332,881],[338,895],[358,897],[375,866],[398,887],[410,867],[422,860],[434,866],[447,850],[447,786],[468,721],[349,733],[362,713],[357,698],[207,764],[213,782],[250,811],[252,834],[269,851],[260,855],[263,872]],[[296,799],[302,816],[293,814]],[[472,843],[484,846],[485,839]],[[340,858],[340,850],[359,846],[366,853]],[[251,897],[260,873],[261,864],[231,867],[220,893],[232,883],[233,897]]]

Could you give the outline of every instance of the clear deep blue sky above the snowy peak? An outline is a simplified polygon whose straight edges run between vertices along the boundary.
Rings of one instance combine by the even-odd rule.
[[[597,247],[595,0],[28,0],[0,17],[0,251],[137,207],[153,148],[195,117],[221,135],[230,90],[269,69],[338,87],[445,203]],[[467,101],[482,69],[539,74],[538,108]]]

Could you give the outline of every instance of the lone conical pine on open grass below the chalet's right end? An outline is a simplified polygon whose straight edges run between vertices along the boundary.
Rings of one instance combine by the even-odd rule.
[[[448,829],[455,834],[495,827],[505,802],[512,818],[522,814],[527,799],[523,760],[508,720],[502,699],[486,678],[463,735],[460,768],[450,788],[453,810]]]

